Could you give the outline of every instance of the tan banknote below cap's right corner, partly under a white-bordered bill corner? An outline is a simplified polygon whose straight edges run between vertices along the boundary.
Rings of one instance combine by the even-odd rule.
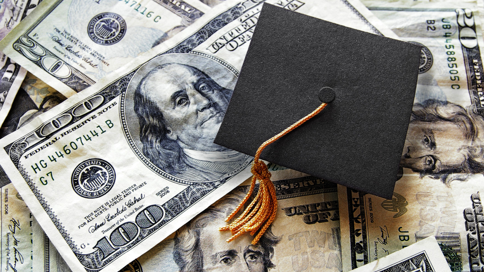
[[[452,271],[482,271],[483,182],[482,175],[444,184],[405,174],[392,199],[338,187],[343,270],[435,236]]]

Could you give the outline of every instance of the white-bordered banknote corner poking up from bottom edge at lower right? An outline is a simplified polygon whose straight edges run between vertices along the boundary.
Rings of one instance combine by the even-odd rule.
[[[440,251],[439,243],[434,237],[428,237],[420,242],[359,267],[354,272],[450,272],[445,257]]]

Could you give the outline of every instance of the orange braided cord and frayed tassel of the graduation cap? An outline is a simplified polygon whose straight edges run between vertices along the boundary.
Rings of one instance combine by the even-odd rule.
[[[242,202],[237,206],[237,208],[228,215],[226,222],[230,221],[238,212],[240,212],[249,199],[249,197],[254,192],[256,187],[256,181],[259,181],[259,190],[257,196],[252,200],[249,206],[242,212],[242,214],[230,225],[219,228],[220,231],[230,230],[232,237],[230,237],[227,242],[233,241],[235,238],[241,236],[244,232],[250,232],[250,235],[256,235],[252,244],[257,244],[260,238],[266,231],[266,229],[271,226],[272,221],[274,221],[275,214],[277,212],[277,198],[275,194],[274,184],[271,181],[271,173],[264,162],[259,160],[260,153],[270,144],[275,142],[280,137],[286,135],[289,131],[297,128],[305,121],[316,116],[321,110],[323,110],[328,104],[323,103],[318,106],[313,112],[302,118],[301,120],[295,122],[287,129],[283,130],[276,136],[273,136],[269,140],[265,141],[256,152],[254,157],[254,162],[252,162],[251,172],[254,175],[252,177],[252,183],[250,184],[250,189],[247,195],[242,199]]]

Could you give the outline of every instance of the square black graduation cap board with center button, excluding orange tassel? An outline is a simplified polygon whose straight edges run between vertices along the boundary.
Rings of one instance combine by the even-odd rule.
[[[390,199],[421,47],[264,4],[215,143]],[[324,102],[324,101],[323,101]]]

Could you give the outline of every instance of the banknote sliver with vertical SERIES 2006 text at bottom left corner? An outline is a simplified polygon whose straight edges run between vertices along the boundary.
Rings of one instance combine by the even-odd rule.
[[[1,271],[32,271],[32,214],[12,184],[0,188]]]

